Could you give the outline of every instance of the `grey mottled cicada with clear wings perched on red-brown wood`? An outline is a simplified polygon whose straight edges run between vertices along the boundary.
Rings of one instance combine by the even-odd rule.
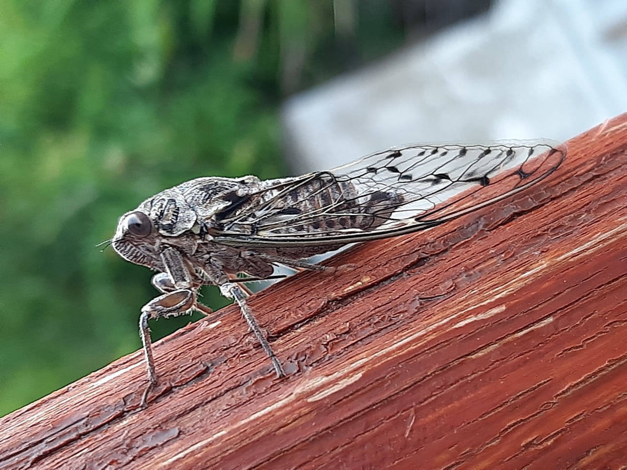
[[[541,181],[565,157],[564,145],[547,141],[408,145],[302,176],[201,177],[146,199],[120,217],[111,240],[122,258],[157,271],[162,293],[139,320],[149,378],[142,405],[157,382],[148,320],[210,313],[198,302],[201,286],[238,303],[282,376],[238,276],[270,278],[276,265],[332,271],[308,258],[477,211]]]

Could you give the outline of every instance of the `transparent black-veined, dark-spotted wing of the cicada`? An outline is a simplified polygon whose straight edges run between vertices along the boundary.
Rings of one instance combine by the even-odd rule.
[[[559,167],[547,141],[409,145],[289,179],[253,195],[214,234],[236,246],[308,246],[386,238],[500,201]]]

